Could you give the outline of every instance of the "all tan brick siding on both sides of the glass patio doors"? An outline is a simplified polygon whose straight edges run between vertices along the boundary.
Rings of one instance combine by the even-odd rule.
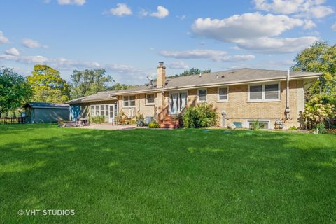
[[[218,87],[207,88],[207,103],[213,104],[216,111],[221,114],[225,111],[225,125],[234,121],[241,122],[248,127],[248,120],[267,120],[270,128],[274,128],[277,119],[285,121],[285,128],[300,127],[300,113],[304,110],[303,80],[290,81],[290,119],[286,120],[286,81],[280,83],[280,101],[274,102],[248,102],[248,85],[229,86],[228,102],[218,102]],[[156,117],[165,106],[169,105],[169,92],[155,93],[155,106],[146,105],[146,94],[136,94],[135,107],[123,107],[123,97],[118,97],[119,109],[127,116],[142,113],[144,116]],[[197,104],[197,89],[188,90],[188,106]],[[218,125],[222,125],[220,116]]]

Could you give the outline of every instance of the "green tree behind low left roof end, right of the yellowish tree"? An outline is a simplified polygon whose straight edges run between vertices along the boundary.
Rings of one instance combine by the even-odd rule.
[[[105,69],[75,70],[71,75],[71,99],[105,91],[111,82],[114,80],[106,75]]]

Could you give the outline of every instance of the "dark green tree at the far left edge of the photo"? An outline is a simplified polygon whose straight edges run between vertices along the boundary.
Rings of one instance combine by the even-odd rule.
[[[31,97],[31,87],[25,77],[13,69],[0,68],[0,116],[1,113],[17,109]]]

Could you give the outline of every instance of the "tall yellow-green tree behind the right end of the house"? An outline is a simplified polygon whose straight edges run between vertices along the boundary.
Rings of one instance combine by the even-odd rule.
[[[322,72],[323,75],[312,85],[307,97],[336,104],[336,45],[318,41],[300,52],[294,59],[294,71]]]

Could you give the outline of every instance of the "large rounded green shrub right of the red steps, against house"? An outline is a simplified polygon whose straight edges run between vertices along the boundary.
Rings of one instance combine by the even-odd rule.
[[[182,117],[184,127],[211,127],[215,126],[218,114],[211,104],[197,104],[186,109]]]

